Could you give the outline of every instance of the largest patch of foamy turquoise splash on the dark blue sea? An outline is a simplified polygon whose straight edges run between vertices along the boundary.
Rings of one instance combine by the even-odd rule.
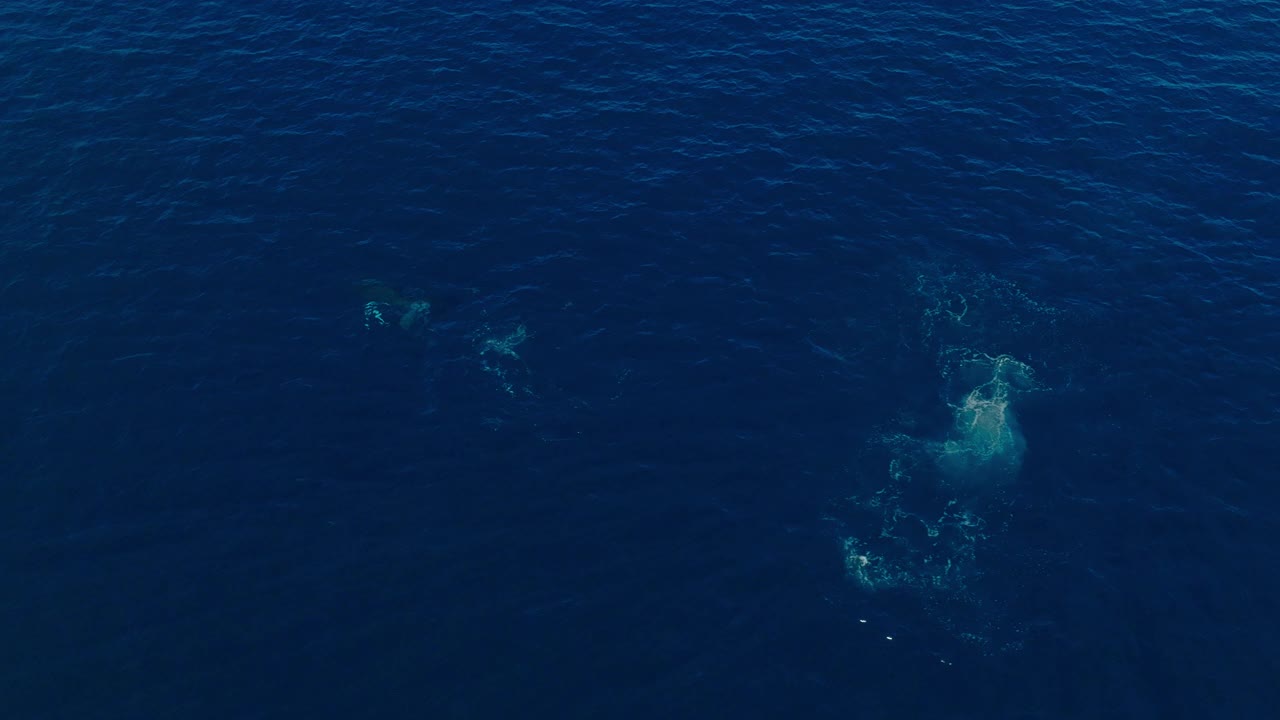
[[[888,479],[849,498],[845,569],[867,591],[918,596],[956,637],[983,642],[998,619],[983,609],[982,557],[1001,534],[1005,488],[1027,454],[1016,407],[1043,389],[1028,363],[987,348],[1034,351],[1059,313],[991,275],[919,275],[913,291],[919,345],[904,347],[936,352],[950,423],[929,432],[904,420],[873,439],[867,452],[887,456]]]

